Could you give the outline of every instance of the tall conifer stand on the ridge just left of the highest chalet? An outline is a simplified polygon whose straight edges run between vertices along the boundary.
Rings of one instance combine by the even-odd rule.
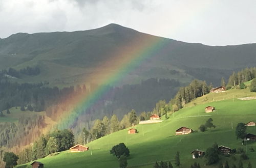
[[[181,87],[175,97],[170,101],[174,110],[182,108],[191,100],[208,94],[212,89],[212,85],[207,85],[205,81],[193,80],[187,87]]]

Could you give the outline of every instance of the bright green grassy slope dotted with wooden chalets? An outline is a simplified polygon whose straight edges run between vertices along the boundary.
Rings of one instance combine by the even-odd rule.
[[[174,163],[176,151],[180,151],[181,167],[190,167],[195,161],[200,162],[201,167],[216,167],[217,165],[205,166],[204,159],[192,159],[190,152],[194,149],[206,150],[215,142],[230,148],[243,148],[247,151],[249,160],[243,160],[244,167],[250,161],[256,165],[256,155],[250,152],[249,147],[256,149],[256,143],[241,145],[234,133],[239,122],[247,123],[256,121],[256,100],[239,100],[237,97],[256,96],[245,90],[229,90],[225,93],[211,93],[198,98],[187,104],[187,107],[177,111],[158,124],[136,125],[137,134],[127,134],[127,129],[101,137],[87,146],[90,150],[83,153],[61,152],[55,156],[48,156],[38,161],[45,163],[45,167],[118,167],[118,160],[110,155],[112,146],[125,143],[130,149],[131,156],[128,167],[153,167],[155,161],[170,160]],[[233,98],[234,95],[234,98]],[[212,101],[214,97],[215,101]],[[207,99],[208,101],[202,101]],[[217,101],[218,100],[218,101]],[[212,105],[216,107],[213,113],[205,113],[204,107]],[[198,127],[204,124],[208,118],[214,120],[215,129],[205,132],[198,131]],[[193,129],[195,132],[188,135],[175,135],[175,130],[181,126]],[[233,126],[233,127],[232,127]],[[256,134],[256,127],[247,128],[247,132]],[[247,149],[247,150],[246,150]],[[237,160],[222,157],[222,161],[238,163]],[[29,167],[20,165],[18,167]]]

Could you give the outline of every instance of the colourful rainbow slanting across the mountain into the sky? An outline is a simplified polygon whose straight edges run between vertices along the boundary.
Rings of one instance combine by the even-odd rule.
[[[182,27],[189,24],[194,17],[203,14],[211,3],[187,3],[188,11],[193,6],[194,12],[189,12],[189,15],[178,13],[180,17],[179,23],[176,24],[170,34],[180,31]],[[195,12],[196,11],[196,12]],[[186,24],[185,24],[186,23]],[[143,61],[152,58],[156,53],[167,46],[168,39],[155,36],[145,35],[144,38],[134,38],[134,41],[127,44],[129,47],[122,47],[118,51],[114,51],[110,56],[111,61],[103,63],[98,68],[96,76],[100,79],[98,87],[92,90],[89,94],[80,94],[75,96],[68,104],[72,106],[69,111],[63,111],[60,114],[60,119],[57,121],[57,128],[70,128],[76,119],[84,113],[84,110],[90,108],[100,96],[108,94],[108,87],[117,85],[128,73],[136,70],[143,64]],[[114,69],[112,73],[106,72],[105,69]],[[94,73],[95,74],[95,73]],[[89,76],[84,83],[93,80],[94,76]]]

